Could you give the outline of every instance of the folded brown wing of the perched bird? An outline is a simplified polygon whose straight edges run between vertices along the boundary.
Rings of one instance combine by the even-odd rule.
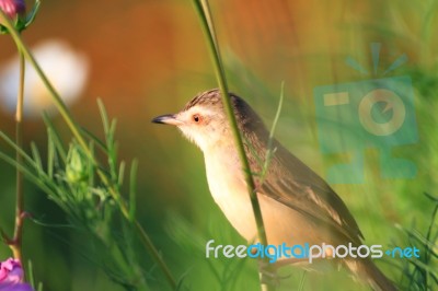
[[[258,191],[359,244],[364,238],[355,219],[336,193],[280,144]]]

